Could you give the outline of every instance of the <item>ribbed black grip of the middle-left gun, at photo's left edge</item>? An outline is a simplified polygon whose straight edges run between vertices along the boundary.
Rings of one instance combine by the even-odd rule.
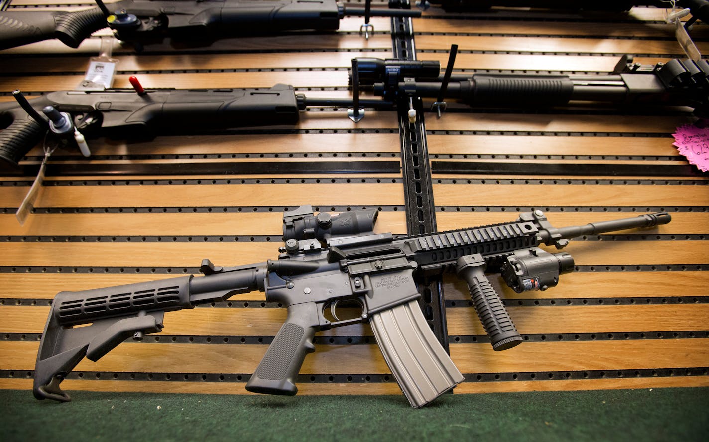
[[[17,168],[17,163],[40,142],[45,130],[22,109],[10,113],[13,122],[0,130],[0,164],[5,162]]]

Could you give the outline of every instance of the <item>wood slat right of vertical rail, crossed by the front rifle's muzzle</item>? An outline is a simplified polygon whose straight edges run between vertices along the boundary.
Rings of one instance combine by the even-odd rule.
[[[708,189],[709,191],[709,189]],[[699,208],[701,210],[702,208]],[[554,227],[572,225],[586,225],[589,222],[618,220],[620,218],[634,217],[643,213],[637,212],[547,212],[547,218]],[[619,234],[705,234],[709,233],[709,212],[670,212],[671,222],[666,225],[651,227],[649,229],[621,230]],[[517,212],[487,212],[476,210],[445,210],[436,212],[436,226],[443,232],[445,230],[465,229],[468,227],[512,222],[517,220]],[[1,218],[0,218],[1,220]],[[0,229],[0,232],[2,230]],[[575,243],[574,243],[575,244]]]

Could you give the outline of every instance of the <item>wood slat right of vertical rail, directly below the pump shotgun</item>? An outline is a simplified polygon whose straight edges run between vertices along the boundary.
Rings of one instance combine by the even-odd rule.
[[[447,113],[440,119],[427,118],[426,130],[671,134],[678,126],[690,123],[691,118],[669,116]]]

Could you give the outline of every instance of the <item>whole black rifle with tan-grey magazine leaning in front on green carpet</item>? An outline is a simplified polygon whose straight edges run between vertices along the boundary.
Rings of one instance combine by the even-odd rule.
[[[52,301],[40,341],[33,392],[38,399],[67,402],[60,382],[86,356],[97,361],[125,339],[160,332],[164,312],[227,300],[260,290],[268,302],[288,309],[246,389],[295,395],[298,372],[315,351],[320,330],[366,322],[404,395],[422,407],[462,382],[463,377],[435,339],[418,302],[415,279],[426,271],[455,267],[469,285],[476,312],[495,350],[523,339],[485,272],[501,273],[515,291],[546,290],[561,273],[574,270],[569,254],[552,254],[541,244],[562,249],[569,239],[670,222],[666,212],[554,228],[541,210],[518,220],[451,232],[394,237],[372,232],[377,211],[313,215],[309,205],[284,213],[285,247],[277,260],[238,267],[202,261],[204,276],[60,292]],[[358,314],[338,317],[340,303]],[[82,324],[82,327],[74,327]]]

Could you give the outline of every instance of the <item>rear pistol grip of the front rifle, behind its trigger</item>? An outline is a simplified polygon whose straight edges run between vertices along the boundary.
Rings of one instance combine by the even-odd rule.
[[[246,390],[268,395],[295,395],[298,372],[306,355],[315,351],[313,336],[318,328],[315,302],[290,305],[285,324],[247,382]]]

